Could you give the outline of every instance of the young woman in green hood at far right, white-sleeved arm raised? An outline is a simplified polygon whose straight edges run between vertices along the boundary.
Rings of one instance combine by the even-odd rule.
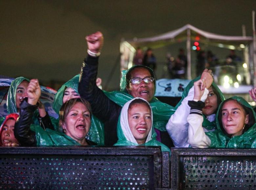
[[[194,83],[195,97],[203,94],[202,80]],[[189,101],[191,107],[188,143],[194,148],[251,148],[256,138],[255,112],[242,97],[233,96],[222,102],[217,111],[217,130],[204,132],[201,101]]]

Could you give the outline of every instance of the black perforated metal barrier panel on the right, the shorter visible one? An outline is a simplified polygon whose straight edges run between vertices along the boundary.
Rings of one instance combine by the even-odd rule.
[[[172,148],[172,189],[256,189],[256,149]]]

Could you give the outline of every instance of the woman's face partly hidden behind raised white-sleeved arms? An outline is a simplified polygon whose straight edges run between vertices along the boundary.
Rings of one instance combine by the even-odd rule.
[[[217,95],[214,93],[212,87],[210,87],[208,90],[209,90],[209,94],[205,100],[205,106],[202,109],[203,115],[206,115],[206,116],[215,113],[215,111],[218,108]]]

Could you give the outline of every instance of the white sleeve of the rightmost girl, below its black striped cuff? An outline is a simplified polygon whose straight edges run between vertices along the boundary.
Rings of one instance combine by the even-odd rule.
[[[188,121],[188,143],[193,148],[207,148],[211,145],[211,140],[205,134],[202,123],[203,116],[199,114],[189,114]]]

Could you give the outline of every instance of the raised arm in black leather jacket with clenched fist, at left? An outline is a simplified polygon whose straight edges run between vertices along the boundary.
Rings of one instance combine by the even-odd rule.
[[[27,88],[28,98],[20,104],[20,117],[14,126],[14,136],[21,146],[35,146],[35,133],[30,130],[33,123],[33,114],[37,109],[37,102],[41,95],[40,85],[37,79],[32,79]]]

